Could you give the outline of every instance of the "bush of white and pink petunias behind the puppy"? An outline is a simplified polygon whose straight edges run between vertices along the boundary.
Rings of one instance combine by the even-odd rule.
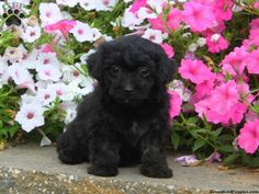
[[[139,34],[179,64],[168,85],[173,148],[259,167],[259,2],[8,0],[0,15],[1,141],[55,140],[93,89],[86,58]]]

